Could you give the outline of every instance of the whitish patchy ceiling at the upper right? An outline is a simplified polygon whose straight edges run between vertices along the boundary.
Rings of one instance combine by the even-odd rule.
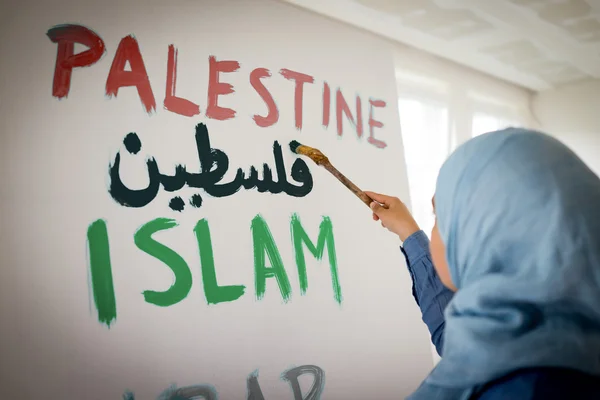
[[[284,0],[541,91],[600,78],[600,0]]]

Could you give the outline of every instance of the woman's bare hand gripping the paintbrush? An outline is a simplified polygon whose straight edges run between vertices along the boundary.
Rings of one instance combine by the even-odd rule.
[[[374,192],[365,193],[375,200],[371,203],[373,219],[381,221],[381,226],[398,235],[400,240],[405,241],[419,230],[419,225],[399,198]]]

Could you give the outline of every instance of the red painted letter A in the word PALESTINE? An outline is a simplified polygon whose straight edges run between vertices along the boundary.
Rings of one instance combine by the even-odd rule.
[[[125,65],[129,61],[131,71],[125,71]],[[119,88],[135,86],[138,90],[142,105],[146,112],[151,113],[156,110],[156,101],[154,93],[150,86],[146,66],[140,53],[140,47],[137,40],[131,35],[121,39],[115,58],[110,67],[108,78],[106,79],[106,95],[117,97]]]

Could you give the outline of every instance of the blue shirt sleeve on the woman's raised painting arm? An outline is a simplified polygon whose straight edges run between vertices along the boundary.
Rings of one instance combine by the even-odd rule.
[[[441,356],[444,347],[444,310],[454,293],[444,286],[435,272],[425,232],[413,233],[404,241],[401,250],[412,278],[413,297],[421,309],[431,342]]]

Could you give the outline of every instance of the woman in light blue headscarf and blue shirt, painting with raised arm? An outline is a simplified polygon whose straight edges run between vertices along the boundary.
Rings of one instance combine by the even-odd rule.
[[[600,180],[575,154],[522,129],[468,141],[440,170],[430,244],[370,195],[442,356],[410,399],[600,399]]]

